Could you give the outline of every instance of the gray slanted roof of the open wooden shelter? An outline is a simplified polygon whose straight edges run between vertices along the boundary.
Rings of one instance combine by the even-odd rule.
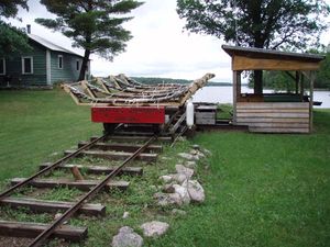
[[[324,56],[309,53],[288,53],[279,52],[275,49],[263,49],[254,47],[241,47],[222,45],[222,49],[230,56],[239,55],[254,58],[278,58],[278,59],[293,59],[293,60],[306,60],[306,61],[320,61],[324,59]]]

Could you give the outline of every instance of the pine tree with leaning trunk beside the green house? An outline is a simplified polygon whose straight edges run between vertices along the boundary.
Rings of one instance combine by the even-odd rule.
[[[56,19],[35,21],[53,31],[61,31],[73,38],[73,46],[85,49],[79,80],[85,78],[90,54],[95,53],[109,60],[125,49],[125,42],[132,38],[122,24],[132,18],[114,18],[130,13],[142,2],[134,0],[41,0]]]

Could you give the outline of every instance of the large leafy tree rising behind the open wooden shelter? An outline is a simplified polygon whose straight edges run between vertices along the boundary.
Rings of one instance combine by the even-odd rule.
[[[330,8],[323,0],[177,0],[186,29],[239,46],[305,49],[319,43]],[[262,71],[254,92],[262,93]]]

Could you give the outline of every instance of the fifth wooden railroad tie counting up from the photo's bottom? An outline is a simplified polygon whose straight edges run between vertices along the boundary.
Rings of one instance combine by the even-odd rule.
[[[69,155],[75,153],[75,150],[66,150],[65,155]],[[101,150],[85,150],[81,151],[77,157],[79,156],[90,156],[95,158],[103,158],[103,159],[111,159],[111,160],[124,160],[129,157],[131,157],[133,153],[125,153],[125,151],[101,151]],[[146,161],[146,162],[153,162],[156,161],[158,155],[157,154],[145,154],[142,153],[138,155],[135,158],[136,160]]]

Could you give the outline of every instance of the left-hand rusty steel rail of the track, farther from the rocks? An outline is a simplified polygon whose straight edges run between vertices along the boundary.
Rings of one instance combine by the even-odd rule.
[[[11,194],[14,190],[16,190],[18,188],[29,184],[29,182],[31,182],[33,179],[37,178],[38,176],[42,176],[42,175],[46,173],[47,171],[53,170],[53,169],[56,168],[57,166],[62,165],[64,161],[66,161],[66,160],[68,160],[68,159],[70,159],[70,158],[74,158],[75,156],[77,156],[77,155],[78,155],[79,153],[81,153],[82,150],[89,148],[90,146],[92,146],[94,144],[96,144],[97,142],[99,142],[99,141],[106,138],[106,137],[107,137],[107,134],[103,135],[103,136],[101,136],[101,137],[99,137],[99,138],[97,138],[97,139],[95,139],[95,141],[92,141],[92,142],[90,142],[90,143],[88,143],[88,144],[86,144],[86,145],[84,145],[82,147],[78,148],[75,153],[69,154],[69,155],[67,155],[67,156],[65,156],[65,157],[58,159],[57,161],[55,161],[55,162],[52,164],[51,166],[48,166],[48,167],[42,169],[41,171],[38,171],[38,172],[36,172],[35,175],[31,176],[30,178],[25,179],[24,181],[19,182],[18,184],[15,184],[15,186],[9,188],[8,190],[6,190],[4,192],[2,192],[2,193],[0,194],[0,201],[1,201],[3,198],[10,195],[10,194]]]

